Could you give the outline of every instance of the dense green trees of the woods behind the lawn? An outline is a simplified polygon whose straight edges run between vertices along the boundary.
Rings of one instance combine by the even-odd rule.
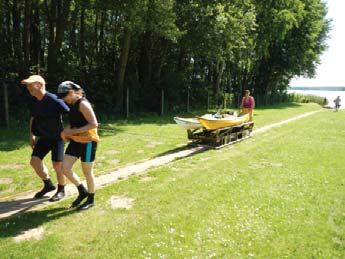
[[[78,82],[108,113],[124,111],[127,88],[131,110],[154,112],[162,90],[169,109],[188,87],[199,102],[284,91],[314,75],[326,13],[322,0],[0,0],[1,81],[13,114],[33,73],[53,92]]]

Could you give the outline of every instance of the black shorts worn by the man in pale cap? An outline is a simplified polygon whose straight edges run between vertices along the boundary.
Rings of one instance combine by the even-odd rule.
[[[61,162],[64,157],[65,143],[61,139],[39,138],[35,144],[31,156],[37,156],[41,160],[51,151],[52,161]]]

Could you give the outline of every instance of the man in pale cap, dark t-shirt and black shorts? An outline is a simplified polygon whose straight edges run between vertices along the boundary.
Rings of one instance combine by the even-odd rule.
[[[46,82],[43,77],[32,75],[21,83],[33,97],[29,105],[30,145],[33,149],[30,164],[44,183],[42,190],[37,192],[34,198],[42,198],[46,193],[56,189],[50,179],[48,168],[43,163],[44,157],[51,151],[58,188],[50,201],[58,201],[65,197],[65,177],[61,170],[64,156],[64,142],[60,137],[63,130],[61,115],[67,113],[69,108],[56,95],[46,91]]]

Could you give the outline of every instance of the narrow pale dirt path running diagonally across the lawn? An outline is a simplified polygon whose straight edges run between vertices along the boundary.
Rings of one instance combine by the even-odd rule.
[[[305,118],[307,116],[313,115],[317,112],[320,112],[322,110],[317,110],[313,112],[304,113],[302,115],[290,118],[288,120],[284,120],[278,123],[273,123],[267,126],[264,126],[262,128],[259,128],[257,130],[253,131],[253,134],[259,134],[266,132],[272,128],[290,123],[292,121]],[[104,174],[101,176],[96,177],[96,187],[102,188],[106,185],[112,184],[114,182],[118,182],[121,180],[127,179],[131,175],[140,175],[145,173],[150,168],[155,168],[161,165],[168,164],[174,160],[185,158],[188,156],[195,155],[200,152],[204,152],[208,150],[207,147],[193,147],[187,150],[182,150],[179,152],[166,154],[163,156],[159,156],[150,160],[146,160],[143,162],[139,162],[133,165],[126,166],[124,168],[120,168],[116,171],[110,172],[108,174]],[[77,189],[73,185],[67,185],[66,186],[66,194],[67,196],[71,196],[77,193]],[[17,197],[15,197],[13,200],[1,200],[0,199],[0,219],[7,218],[12,215],[15,215],[19,212],[24,212],[28,210],[33,209],[40,209],[43,206],[48,206],[51,204],[48,201],[48,198],[41,199],[41,200],[33,200],[32,197],[34,196],[35,192],[27,192],[24,194],[20,194]]]

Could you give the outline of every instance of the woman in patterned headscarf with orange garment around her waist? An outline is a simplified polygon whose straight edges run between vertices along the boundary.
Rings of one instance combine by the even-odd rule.
[[[62,138],[70,141],[65,152],[62,171],[79,192],[71,208],[77,207],[79,210],[86,210],[94,206],[95,177],[93,167],[97,142],[99,141],[97,118],[79,85],[71,81],[62,82],[57,89],[57,95],[70,106],[68,113],[70,128],[62,132]],[[86,178],[87,190],[79,177],[72,172],[72,167],[79,158]],[[85,198],[86,201],[80,205]]]

